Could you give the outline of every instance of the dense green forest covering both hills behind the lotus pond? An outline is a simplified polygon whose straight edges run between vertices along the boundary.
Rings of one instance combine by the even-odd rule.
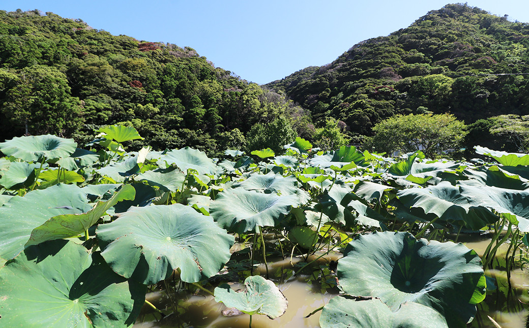
[[[277,152],[296,136],[323,149],[362,144],[395,115],[450,113],[469,125],[467,148],[520,151],[529,148],[528,46],[529,24],[451,4],[258,86],[192,48],[38,10],[0,11],[0,140],[50,133],[86,143],[122,124],[145,137],[131,149],[218,156]]]

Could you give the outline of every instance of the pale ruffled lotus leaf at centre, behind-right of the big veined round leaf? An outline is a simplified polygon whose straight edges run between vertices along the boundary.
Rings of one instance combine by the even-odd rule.
[[[282,216],[297,207],[297,195],[264,194],[236,188],[218,194],[209,213],[224,229],[243,233],[259,227],[274,227]]]

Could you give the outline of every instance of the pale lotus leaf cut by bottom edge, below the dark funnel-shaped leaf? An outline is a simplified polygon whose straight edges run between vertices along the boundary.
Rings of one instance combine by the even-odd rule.
[[[320,316],[322,328],[448,328],[445,318],[422,304],[406,302],[396,312],[380,299],[357,299],[338,295],[329,301]]]

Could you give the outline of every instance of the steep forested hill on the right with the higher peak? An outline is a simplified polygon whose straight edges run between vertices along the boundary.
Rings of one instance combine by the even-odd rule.
[[[527,23],[451,4],[267,87],[310,109],[315,123],[343,120],[353,135],[395,114],[450,112],[467,124],[527,115],[529,75],[488,74],[529,73],[528,47]]]

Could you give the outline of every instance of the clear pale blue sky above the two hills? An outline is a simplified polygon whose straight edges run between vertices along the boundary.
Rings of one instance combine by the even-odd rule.
[[[0,10],[38,9],[80,18],[114,35],[189,46],[216,67],[267,83],[332,62],[354,44],[411,25],[449,0],[2,0]],[[527,0],[472,0],[529,23]]]

